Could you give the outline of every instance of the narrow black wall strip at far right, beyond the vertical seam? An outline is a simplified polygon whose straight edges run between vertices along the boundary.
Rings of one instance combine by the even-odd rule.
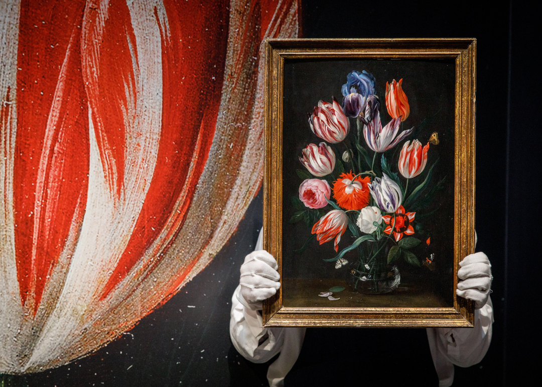
[[[513,1],[511,21],[503,372],[507,385],[528,385],[540,358],[535,324],[540,284],[533,272],[540,261],[540,237],[537,222],[528,220],[539,211],[542,192],[540,50],[531,46],[540,38],[540,20],[530,3]]]

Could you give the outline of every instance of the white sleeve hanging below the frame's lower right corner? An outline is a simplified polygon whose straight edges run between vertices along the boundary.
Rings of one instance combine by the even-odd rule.
[[[491,344],[493,304],[474,311],[474,328],[427,328],[427,338],[439,386],[448,387],[454,381],[454,364],[470,367],[480,363]]]

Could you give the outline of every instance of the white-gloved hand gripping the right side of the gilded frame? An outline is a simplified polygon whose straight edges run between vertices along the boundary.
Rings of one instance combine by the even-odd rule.
[[[474,234],[474,246],[478,237]],[[457,283],[456,293],[460,297],[474,301],[474,308],[483,307],[491,292],[491,263],[483,252],[475,252],[463,258],[459,263],[461,269],[457,271],[457,277],[461,280]]]

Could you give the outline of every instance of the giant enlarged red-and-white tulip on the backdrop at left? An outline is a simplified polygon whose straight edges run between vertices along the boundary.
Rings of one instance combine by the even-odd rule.
[[[261,40],[298,22],[295,0],[232,4],[0,6],[0,373],[98,350],[237,229],[263,173]]]

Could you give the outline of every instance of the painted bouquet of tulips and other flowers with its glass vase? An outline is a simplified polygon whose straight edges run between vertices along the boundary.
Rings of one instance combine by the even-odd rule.
[[[425,145],[406,140],[393,162],[397,145],[414,130],[401,130],[410,114],[402,81],[386,82],[385,106],[391,119],[382,126],[375,78],[366,71],[348,74],[343,103],[334,97],[331,103],[320,100],[308,114],[309,127],[324,142],[308,144],[299,157],[305,169],[296,170],[302,182],[299,197],[292,198],[298,211],[290,222],[312,225],[312,238],[320,245],[334,240],[337,256],[324,261],[334,262],[335,269],[349,264],[345,255],[354,251],[357,259],[349,272],[354,290],[362,293],[397,288],[401,277],[396,261],[401,257],[415,267],[423,262],[433,269],[430,255],[421,261],[415,253],[422,243],[416,233],[423,232],[416,224],[416,211],[427,208],[443,187],[444,179],[432,182],[438,160],[424,176],[415,177],[424,172],[429,145],[437,145],[438,136],[433,132]],[[357,130],[351,131],[354,122]],[[351,243],[339,252],[345,232],[351,234]],[[430,238],[424,243],[429,245]]]

